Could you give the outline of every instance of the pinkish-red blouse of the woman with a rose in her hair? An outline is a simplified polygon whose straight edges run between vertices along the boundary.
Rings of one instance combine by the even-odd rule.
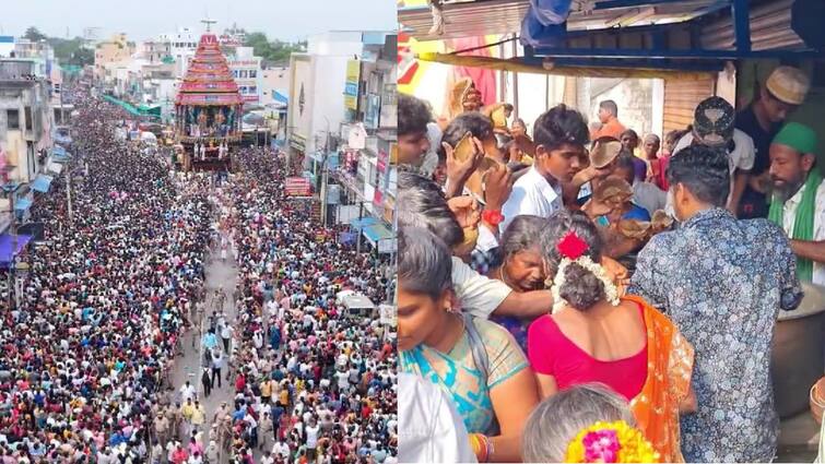
[[[630,357],[602,361],[567,338],[550,314],[530,324],[527,347],[533,370],[553,376],[558,390],[599,382],[630,401],[641,392],[647,379],[647,342]]]

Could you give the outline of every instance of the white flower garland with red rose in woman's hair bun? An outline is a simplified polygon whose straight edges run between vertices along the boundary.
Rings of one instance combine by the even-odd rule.
[[[567,266],[571,263],[585,267],[600,279],[604,287],[604,296],[608,302],[618,306],[618,289],[613,285],[613,281],[608,273],[604,272],[604,267],[599,263],[594,263],[590,257],[585,254],[589,248],[590,246],[573,230],[568,231],[556,245],[556,249],[562,255],[562,261],[558,263],[558,270],[553,278],[553,286],[550,287],[550,292],[553,295],[553,313],[561,311],[562,308],[567,306],[567,300],[562,298],[561,288],[566,281]]]

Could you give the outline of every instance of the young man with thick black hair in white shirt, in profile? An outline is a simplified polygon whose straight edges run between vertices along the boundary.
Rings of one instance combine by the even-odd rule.
[[[502,233],[516,216],[550,217],[564,207],[562,185],[570,182],[579,170],[588,138],[585,119],[564,105],[551,108],[535,120],[535,160],[512,186],[510,198],[502,207]]]

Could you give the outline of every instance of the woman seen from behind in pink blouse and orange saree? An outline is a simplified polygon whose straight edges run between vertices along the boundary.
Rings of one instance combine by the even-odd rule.
[[[559,212],[542,236],[552,314],[528,331],[542,398],[599,382],[624,396],[663,462],[683,462],[679,415],[695,411],[693,347],[661,312],[620,297],[601,265],[602,239],[582,213]]]

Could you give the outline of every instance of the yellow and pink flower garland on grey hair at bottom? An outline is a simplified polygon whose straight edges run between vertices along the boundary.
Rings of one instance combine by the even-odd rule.
[[[657,463],[661,456],[624,420],[596,423],[567,445],[566,463]]]

